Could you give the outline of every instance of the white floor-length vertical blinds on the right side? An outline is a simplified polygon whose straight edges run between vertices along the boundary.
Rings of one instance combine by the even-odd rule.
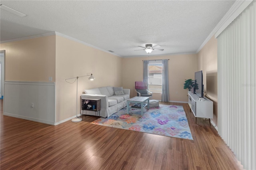
[[[256,169],[256,1],[218,36],[218,133]]]

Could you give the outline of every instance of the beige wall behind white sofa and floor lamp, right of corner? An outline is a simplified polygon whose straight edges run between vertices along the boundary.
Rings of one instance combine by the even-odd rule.
[[[56,122],[76,114],[76,83],[66,83],[65,79],[86,73],[92,73],[96,79],[78,79],[78,113],[84,89],[122,86],[122,58],[56,36]]]

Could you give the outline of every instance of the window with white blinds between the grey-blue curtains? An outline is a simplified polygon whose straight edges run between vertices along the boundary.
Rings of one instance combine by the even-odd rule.
[[[162,93],[162,60],[150,60],[148,63],[148,90]]]

